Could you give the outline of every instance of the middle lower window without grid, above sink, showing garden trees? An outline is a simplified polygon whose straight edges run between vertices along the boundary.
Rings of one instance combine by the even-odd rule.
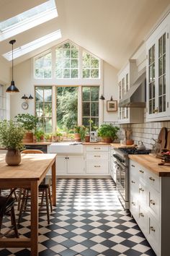
[[[73,129],[78,119],[78,87],[57,87],[57,126]]]

